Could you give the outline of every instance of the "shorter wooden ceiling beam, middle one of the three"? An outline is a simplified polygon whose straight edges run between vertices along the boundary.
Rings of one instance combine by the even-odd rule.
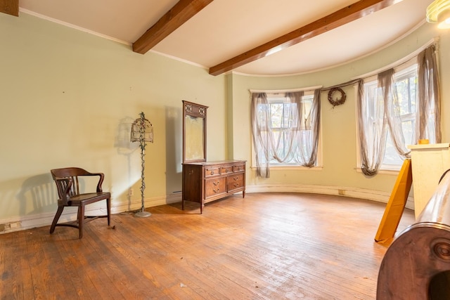
[[[4,1],[4,0],[0,0]],[[133,43],[133,51],[144,54],[213,0],[180,0],[146,33]]]

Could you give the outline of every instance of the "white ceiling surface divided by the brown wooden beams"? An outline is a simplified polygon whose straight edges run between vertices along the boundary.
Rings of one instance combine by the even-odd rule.
[[[20,0],[19,3],[20,13],[132,44],[178,1]],[[151,51],[210,68],[354,2],[214,0]],[[431,2],[403,0],[233,71],[299,74],[349,62],[378,51],[423,24],[425,9]]]

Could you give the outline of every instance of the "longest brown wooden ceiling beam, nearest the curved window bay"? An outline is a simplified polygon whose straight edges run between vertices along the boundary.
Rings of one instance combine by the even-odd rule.
[[[281,51],[298,44],[301,41],[311,39],[311,37],[316,37],[319,34],[323,34],[324,32],[333,30],[366,15],[375,13],[375,11],[380,11],[383,8],[391,6],[395,2],[396,0],[361,0],[354,4],[350,4],[339,11],[335,11],[334,13],[300,27],[293,32],[289,32],[266,44],[257,46],[250,51],[226,60],[224,63],[219,63],[219,65],[210,67],[210,74],[216,76],[231,71],[236,69],[236,67],[251,63],[259,58],[264,58],[271,53]]]

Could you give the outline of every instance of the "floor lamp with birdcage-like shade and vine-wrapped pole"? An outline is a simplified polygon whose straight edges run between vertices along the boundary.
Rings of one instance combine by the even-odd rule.
[[[148,211],[145,211],[144,206],[144,197],[143,197],[143,191],[146,189],[146,181],[144,176],[144,166],[145,166],[145,156],[146,156],[146,145],[147,142],[153,143],[153,126],[146,119],[146,116],[141,112],[140,118],[134,120],[133,125],[131,126],[131,142],[139,142],[139,147],[141,148],[141,211],[136,212],[134,216],[138,217],[146,217],[151,216],[151,214]]]

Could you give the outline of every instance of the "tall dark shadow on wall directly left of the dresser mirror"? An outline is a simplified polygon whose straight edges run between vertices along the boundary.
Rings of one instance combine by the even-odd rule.
[[[181,101],[180,107],[166,107],[166,195],[181,192],[182,119]]]

